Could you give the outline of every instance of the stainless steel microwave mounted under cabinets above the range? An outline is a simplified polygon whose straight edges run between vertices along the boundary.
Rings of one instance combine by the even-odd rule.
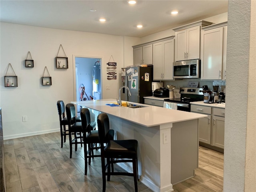
[[[200,78],[200,59],[173,62],[173,78]]]

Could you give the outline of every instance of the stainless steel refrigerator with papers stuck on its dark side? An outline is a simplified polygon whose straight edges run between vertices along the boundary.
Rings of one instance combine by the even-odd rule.
[[[122,90],[122,100],[144,104],[145,96],[152,96],[153,66],[122,68],[122,85],[128,86],[132,96]]]

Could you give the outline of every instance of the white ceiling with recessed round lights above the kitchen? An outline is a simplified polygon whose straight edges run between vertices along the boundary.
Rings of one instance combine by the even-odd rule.
[[[96,12],[90,12],[96,9]],[[172,10],[179,14],[171,16]],[[46,28],[143,37],[228,12],[228,0],[1,0],[0,20]],[[99,18],[106,22],[99,22]],[[136,25],[142,24],[142,29]]]

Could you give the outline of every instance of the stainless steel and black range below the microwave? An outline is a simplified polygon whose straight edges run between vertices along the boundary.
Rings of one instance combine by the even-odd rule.
[[[202,88],[180,88],[180,98],[165,99],[165,102],[176,103],[177,109],[190,112],[190,102],[203,101],[204,93]]]

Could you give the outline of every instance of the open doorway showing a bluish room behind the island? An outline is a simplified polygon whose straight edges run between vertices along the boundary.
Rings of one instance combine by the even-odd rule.
[[[101,99],[101,58],[75,57],[76,100]],[[77,108],[80,112],[80,106]]]

